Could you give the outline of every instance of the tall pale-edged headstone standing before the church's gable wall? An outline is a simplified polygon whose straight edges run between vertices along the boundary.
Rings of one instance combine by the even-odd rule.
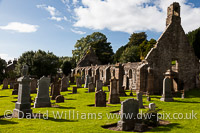
[[[165,73],[165,78],[163,80],[163,95],[161,97],[161,101],[164,102],[172,102],[173,97],[172,97],[172,89],[173,89],[173,83],[172,83],[172,72],[171,70],[168,70]]]

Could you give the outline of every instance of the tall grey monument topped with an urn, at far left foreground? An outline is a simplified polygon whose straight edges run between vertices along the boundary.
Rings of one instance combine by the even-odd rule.
[[[31,79],[28,76],[28,66],[24,65],[22,68],[22,77],[17,79],[19,82],[18,100],[15,103],[15,109],[12,116],[14,118],[26,118],[26,116],[32,116],[32,109],[30,103],[30,82]]]

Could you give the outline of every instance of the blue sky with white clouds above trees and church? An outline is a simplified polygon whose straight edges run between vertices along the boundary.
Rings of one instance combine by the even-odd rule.
[[[72,56],[76,41],[93,32],[105,34],[114,52],[133,32],[157,40],[173,2],[186,33],[200,27],[199,0],[0,0],[0,57],[38,49]]]

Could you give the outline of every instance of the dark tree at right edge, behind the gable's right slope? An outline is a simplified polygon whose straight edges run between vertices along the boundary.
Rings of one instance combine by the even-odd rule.
[[[200,59],[200,28],[187,34],[190,45],[194,48],[195,55]]]

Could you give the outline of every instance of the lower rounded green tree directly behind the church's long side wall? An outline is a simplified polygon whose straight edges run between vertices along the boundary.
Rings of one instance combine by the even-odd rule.
[[[119,61],[121,63],[140,61],[139,47],[138,46],[127,47],[124,50],[123,54],[121,55]]]

